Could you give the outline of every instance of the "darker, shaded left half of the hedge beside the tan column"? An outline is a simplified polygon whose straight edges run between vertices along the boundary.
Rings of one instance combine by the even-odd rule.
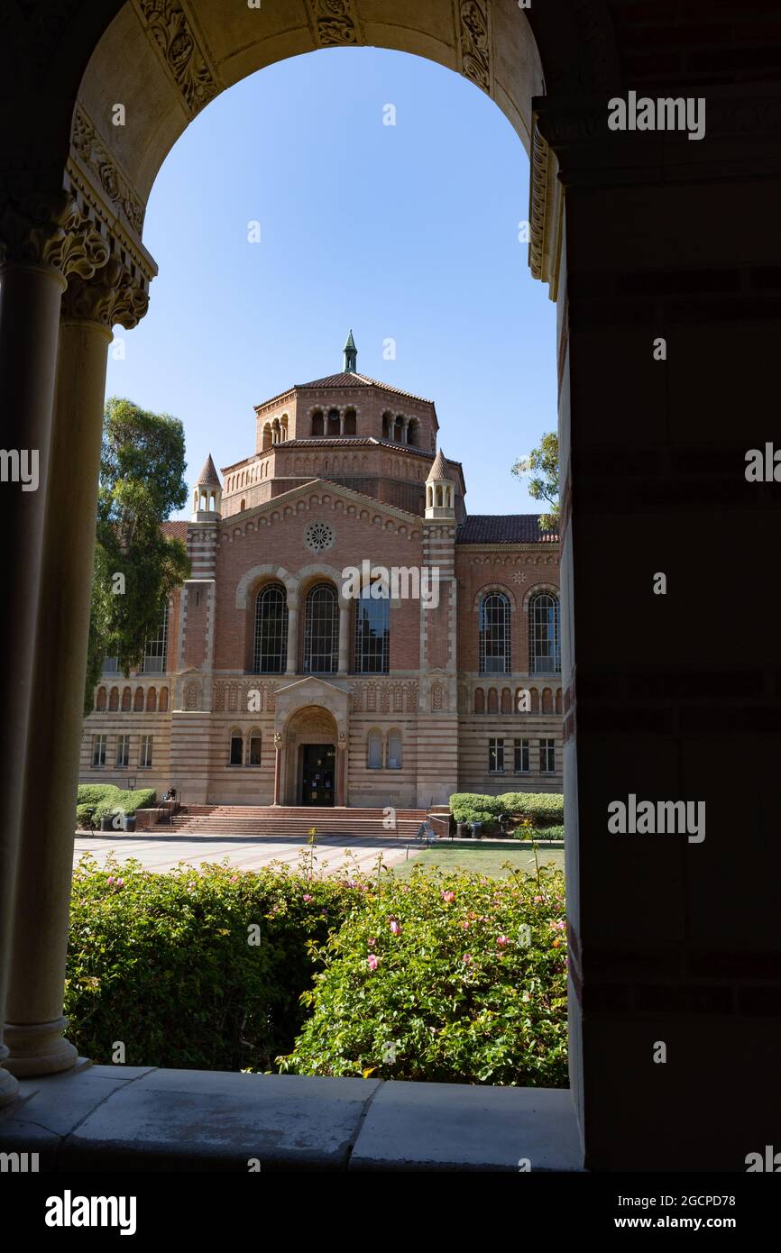
[[[69,1039],[99,1063],[122,1040],[129,1065],[271,1069],[303,1021],[310,941],[322,945],[356,897],[287,868],[154,875],[84,857],[73,880]]]

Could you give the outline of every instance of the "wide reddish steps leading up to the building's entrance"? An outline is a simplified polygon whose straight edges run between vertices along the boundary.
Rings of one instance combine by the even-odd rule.
[[[389,831],[382,824],[384,809],[380,808],[198,804],[181,809],[165,829],[184,836],[306,840],[315,827],[318,836],[396,836],[410,840],[416,836],[425,817],[425,809],[396,809],[396,829]]]

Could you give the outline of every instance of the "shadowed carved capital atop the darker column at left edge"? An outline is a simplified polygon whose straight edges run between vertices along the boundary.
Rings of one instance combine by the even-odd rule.
[[[0,264],[50,266],[92,278],[109,258],[99,223],[65,190],[0,202]]]

